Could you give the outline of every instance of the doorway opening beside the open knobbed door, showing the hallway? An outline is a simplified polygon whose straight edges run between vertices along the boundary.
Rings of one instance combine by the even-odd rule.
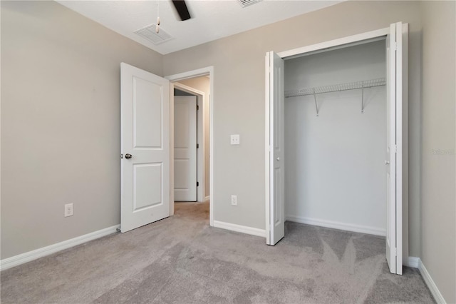
[[[175,202],[203,203],[209,201],[209,123],[204,117],[209,78],[185,79],[174,87]]]

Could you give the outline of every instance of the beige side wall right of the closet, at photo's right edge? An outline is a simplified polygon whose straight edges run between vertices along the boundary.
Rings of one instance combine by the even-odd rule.
[[[456,303],[456,10],[423,2],[421,259],[447,303]]]

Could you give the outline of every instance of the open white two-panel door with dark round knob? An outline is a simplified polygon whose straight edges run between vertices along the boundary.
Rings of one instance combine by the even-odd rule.
[[[122,232],[170,216],[170,82],[120,65]]]

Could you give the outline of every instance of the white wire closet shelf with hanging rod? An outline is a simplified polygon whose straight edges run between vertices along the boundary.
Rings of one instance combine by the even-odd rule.
[[[358,88],[373,88],[375,86],[385,86],[386,78],[376,78],[348,83],[333,84],[329,86],[316,86],[314,88],[300,88],[299,90],[285,91],[285,97],[317,95],[323,93],[333,93],[348,90],[357,90]]]

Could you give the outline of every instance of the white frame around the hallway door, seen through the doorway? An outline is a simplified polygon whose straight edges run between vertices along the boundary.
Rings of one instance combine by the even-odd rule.
[[[200,106],[200,111],[197,113],[197,123],[201,122],[202,128],[197,129],[197,138],[200,139],[200,141],[197,140],[197,143],[199,144],[199,148],[197,150],[197,159],[201,161],[197,161],[197,181],[199,181],[199,186],[197,188],[197,201],[199,202],[204,202],[204,198],[206,196],[206,178],[209,178],[208,176],[204,176],[204,172],[206,172],[206,162],[204,159],[206,159],[206,130],[204,129],[204,101],[206,101],[206,93],[202,91],[198,91],[196,88],[192,88],[190,86],[185,86],[185,84],[182,84],[180,82],[175,82],[174,88],[179,89],[180,91],[184,91],[186,93],[190,93],[193,95],[196,95],[197,97],[197,105]]]

